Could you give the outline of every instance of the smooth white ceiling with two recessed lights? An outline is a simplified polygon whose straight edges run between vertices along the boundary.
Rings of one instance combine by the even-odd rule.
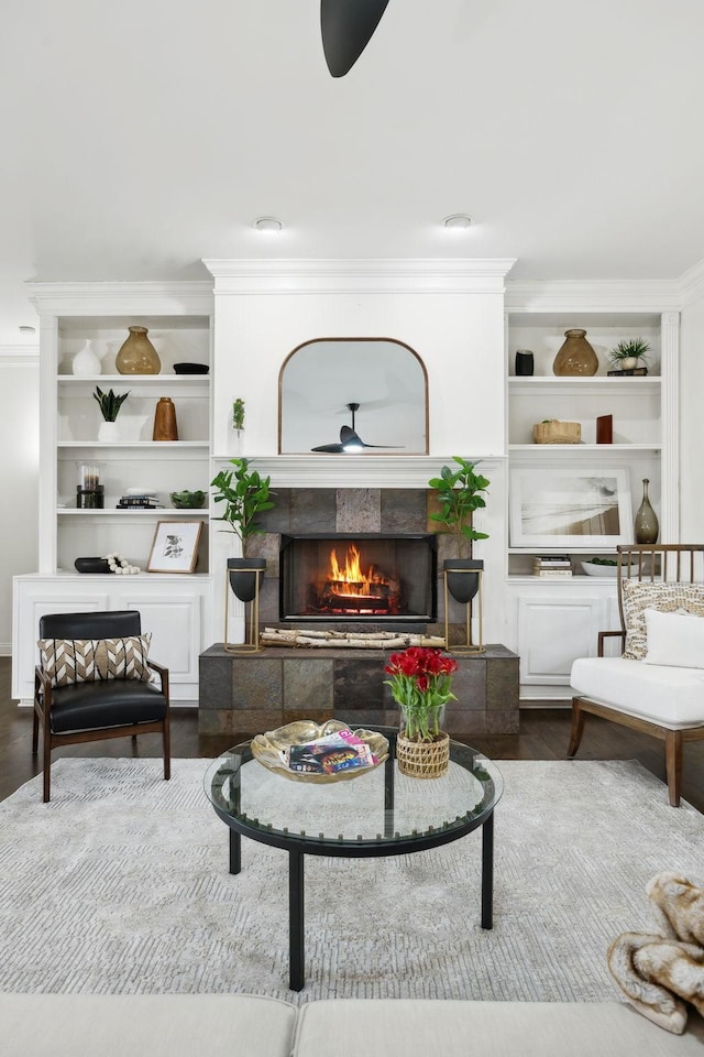
[[[4,0],[0,346],[26,281],[202,258],[704,258],[702,0],[391,0],[343,78],[319,0]],[[474,218],[465,232],[439,226]],[[261,215],[284,220],[261,235]]]

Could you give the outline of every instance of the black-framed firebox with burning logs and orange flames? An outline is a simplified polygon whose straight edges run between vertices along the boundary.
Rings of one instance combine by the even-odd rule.
[[[435,621],[437,565],[433,534],[283,535],[279,618]]]

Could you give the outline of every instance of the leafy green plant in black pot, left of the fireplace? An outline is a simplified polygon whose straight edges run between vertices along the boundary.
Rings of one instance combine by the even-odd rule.
[[[230,459],[232,470],[220,470],[210,484],[216,489],[216,503],[224,504],[222,513],[216,521],[223,521],[223,532],[232,532],[242,545],[241,558],[228,558],[230,586],[242,602],[251,602],[255,595],[255,576],[261,586],[266,568],[265,558],[254,558],[248,553],[249,542],[255,535],[263,535],[264,528],[258,523],[258,516],[266,510],[274,509],[271,491],[271,478],[262,477],[257,470],[250,469],[251,459]],[[242,569],[252,571],[243,573]],[[261,571],[254,571],[260,570]]]

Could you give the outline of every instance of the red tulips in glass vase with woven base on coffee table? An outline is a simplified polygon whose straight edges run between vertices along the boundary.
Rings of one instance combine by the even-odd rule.
[[[436,778],[448,771],[450,739],[441,724],[444,706],[457,700],[450,689],[457,669],[457,661],[427,646],[391,655],[385,683],[400,709],[396,759],[403,774]]]

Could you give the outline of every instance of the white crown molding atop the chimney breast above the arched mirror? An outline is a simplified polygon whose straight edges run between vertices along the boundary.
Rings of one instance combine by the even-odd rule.
[[[513,258],[204,260],[219,294],[501,293]]]

